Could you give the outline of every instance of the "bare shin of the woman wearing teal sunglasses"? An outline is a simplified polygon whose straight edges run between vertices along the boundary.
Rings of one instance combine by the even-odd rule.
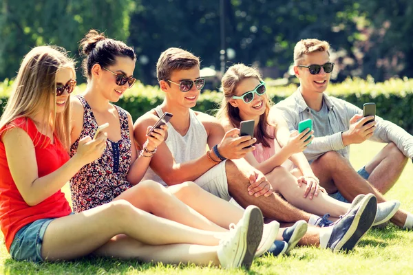
[[[306,185],[301,187],[297,184],[297,178],[293,176],[286,168],[277,167],[266,174],[268,181],[271,182],[271,186],[275,192],[279,192],[289,203],[293,204],[297,208],[303,209],[307,212],[322,216],[329,213],[331,217],[340,217],[346,214],[349,203],[343,203],[337,199],[333,199],[324,192],[319,192],[317,197],[313,199],[304,198],[304,191]]]

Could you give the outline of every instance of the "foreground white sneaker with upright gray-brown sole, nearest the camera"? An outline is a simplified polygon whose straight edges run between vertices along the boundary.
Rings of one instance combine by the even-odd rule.
[[[253,263],[258,244],[262,239],[263,218],[260,208],[248,206],[237,225],[230,226],[230,232],[218,246],[218,260],[224,268],[240,267],[247,270]]]

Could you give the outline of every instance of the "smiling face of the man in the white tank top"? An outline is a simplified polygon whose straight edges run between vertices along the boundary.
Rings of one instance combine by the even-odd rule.
[[[195,106],[201,91],[193,84],[189,91],[183,92],[180,91],[179,85],[175,83],[180,83],[182,80],[195,80],[198,78],[200,78],[200,67],[198,66],[192,67],[191,69],[175,70],[169,79],[173,83],[161,80],[160,88],[167,93],[166,96],[168,100],[173,102],[173,104],[184,108],[192,108]]]

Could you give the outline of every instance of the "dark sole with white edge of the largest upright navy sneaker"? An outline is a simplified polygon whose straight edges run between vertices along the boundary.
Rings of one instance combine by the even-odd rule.
[[[357,210],[350,228],[332,250],[333,252],[352,250],[359,243],[361,237],[372,227],[377,212],[377,199],[372,194],[366,195],[364,199],[368,199],[368,201],[359,204],[359,210]]]

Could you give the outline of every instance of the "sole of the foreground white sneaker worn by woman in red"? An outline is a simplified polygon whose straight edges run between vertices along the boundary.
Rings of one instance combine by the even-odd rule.
[[[249,211],[248,230],[245,236],[246,252],[241,263],[242,267],[246,268],[246,270],[249,270],[249,268],[251,267],[255,252],[257,251],[258,245],[260,245],[263,225],[264,219],[262,217],[262,212],[260,208],[254,206],[254,208]]]

